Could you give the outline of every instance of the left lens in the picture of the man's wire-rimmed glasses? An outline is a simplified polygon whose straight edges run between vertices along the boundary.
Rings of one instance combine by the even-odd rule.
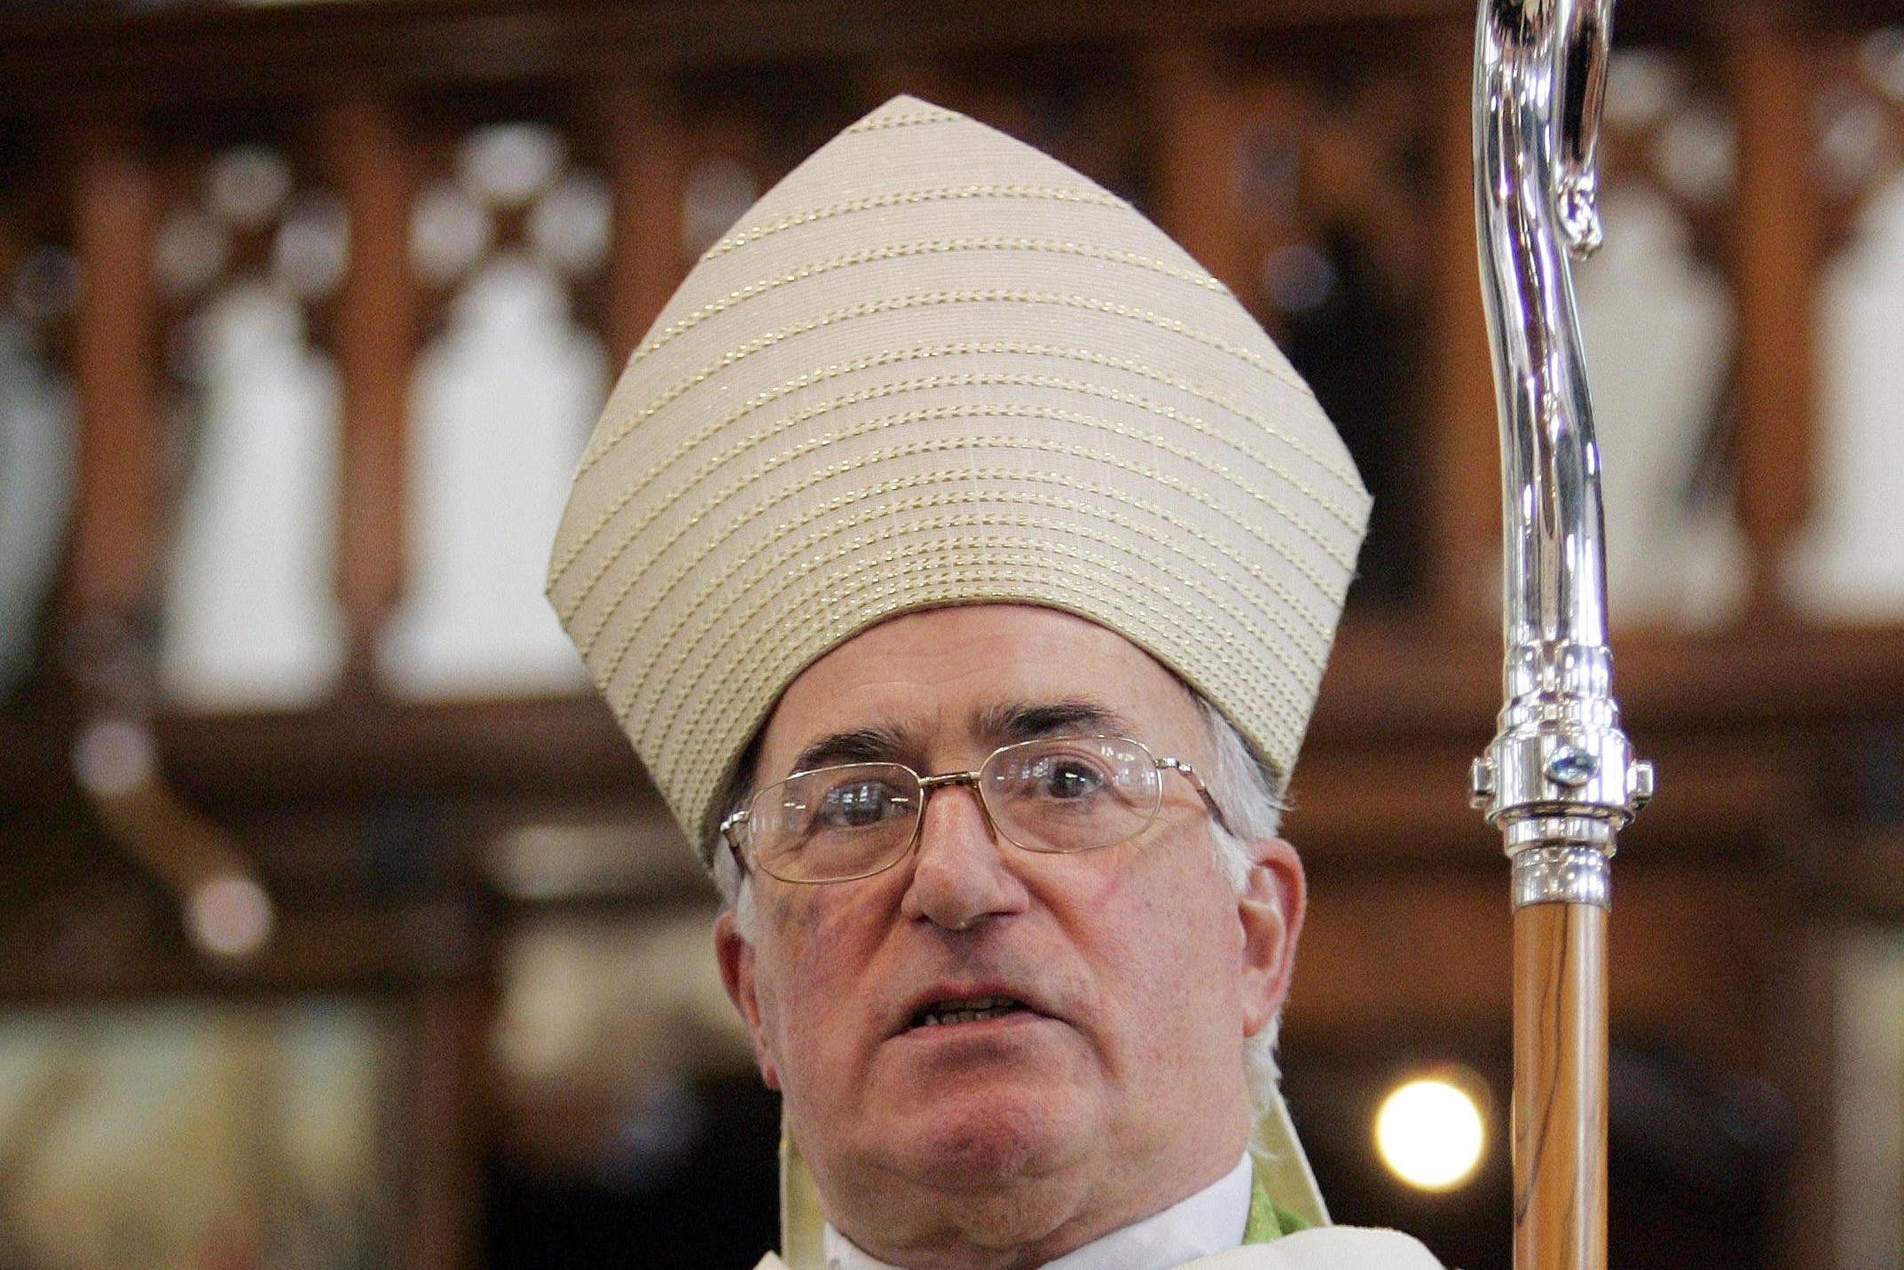
[[[876,874],[918,821],[920,779],[899,764],[803,771],[756,794],[746,817],[754,861],[783,882]]]

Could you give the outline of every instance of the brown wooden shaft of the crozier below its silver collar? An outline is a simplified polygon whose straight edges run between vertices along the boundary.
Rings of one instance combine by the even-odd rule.
[[[1607,910],[1514,914],[1514,1264],[1607,1266]]]

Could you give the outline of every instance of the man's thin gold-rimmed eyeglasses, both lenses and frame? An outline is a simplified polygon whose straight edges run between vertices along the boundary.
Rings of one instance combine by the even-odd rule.
[[[946,784],[979,794],[996,838],[1047,855],[1097,851],[1142,834],[1180,771],[1228,830],[1203,779],[1129,737],[1041,737],[1003,744],[977,771],[922,777],[904,764],[796,771],[720,824],[735,861],[781,882],[853,882],[891,868],[920,840],[925,798]]]

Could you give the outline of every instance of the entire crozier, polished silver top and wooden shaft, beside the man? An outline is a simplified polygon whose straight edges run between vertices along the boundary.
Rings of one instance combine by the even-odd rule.
[[[1607,1264],[1607,908],[1653,794],[1613,701],[1599,451],[1567,255],[1599,246],[1613,0],[1481,0],[1474,192],[1495,350],[1506,704],[1474,802],[1514,863],[1514,1266]]]

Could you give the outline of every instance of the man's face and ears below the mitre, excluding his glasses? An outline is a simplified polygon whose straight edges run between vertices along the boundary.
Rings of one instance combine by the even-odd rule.
[[[1053,609],[977,605],[893,619],[817,661],[754,775],[969,771],[1062,733],[1209,762],[1190,695],[1137,645]],[[1236,1163],[1243,1040],[1287,988],[1302,876],[1287,843],[1249,843],[1240,897],[1211,830],[1192,784],[1165,775],[1137,840],[1036,855],[994,842],[977,794],[946,786],[882,874],[754,876],[754,941],[724,918],[722,969],[836,1224],[889,1257],[960,1238],[1062,1251]],[[922,1021],[975,998],[1021,1007]]]

